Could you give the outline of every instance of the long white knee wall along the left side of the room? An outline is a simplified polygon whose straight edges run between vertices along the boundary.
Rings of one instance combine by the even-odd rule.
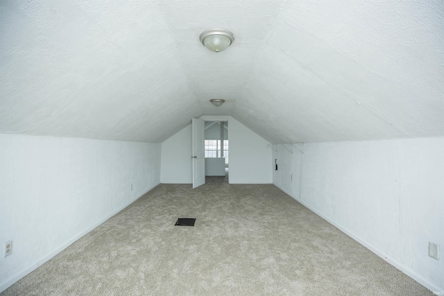
[[[159,182],[159,143],[0,134],[0,291]]]

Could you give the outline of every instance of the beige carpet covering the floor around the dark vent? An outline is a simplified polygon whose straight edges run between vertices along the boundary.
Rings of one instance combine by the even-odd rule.
[[[223,180],[157,186],[2,296],[433,295],[275,186]]]

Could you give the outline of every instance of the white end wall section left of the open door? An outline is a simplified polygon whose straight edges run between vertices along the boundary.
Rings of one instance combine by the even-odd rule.
[[[193,182],[191,144],[191,124],[162,143],[160,182],[172,184]]]

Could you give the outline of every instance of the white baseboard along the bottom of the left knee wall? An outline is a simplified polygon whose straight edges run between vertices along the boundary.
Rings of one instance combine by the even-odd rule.
[[[139,198],[142,198],[143,195],[145,195],[146,193],[148,193],[149,191],[151,191],[152,189],[155,188],[155,186],[159,185],[159,183],[155,184],[154,186],[152,186],[150,189],[148,189],[148,191],[146,191],[145,193],[143,193],[142,195],[139,195],[137,198],[133,198],[133,200],[130,200],[129,202],[127,202],[126,204],[123,204],[123,206],[119,207],[119,209],[113,211],[111,214],[109,214],[108,216],[105,216],[105,218],[99,220],[97,223],[94,223],[94,225],[92,225],[91,227],[88,227],[87,229],[85,229],[83,232],[80,232],[79,234],[77,234],[76,236],[74,236],[73,238],[71,238],[69,241],[67,241],[67,243],[64,243],[63,245],[61,245],[60,247],[58,247],[56,250],[53,250],[53,252],[47,254],[46,256],[42,257],[41,259],[35,261],[33,264],[29,265],[28,268],[25,268],[22,271],[17,272],[15,275],[13,275],[10,279],[8,279],[7,281],[3,282],[0,284],[0,293],[2,293],[4,290],[6,290],[7,288],[9,288],[10,286],[12,286],[13,284],[15,284],[15,282],[19,281],[19,279],[22,279],[23,277],[25,277],[26,275],[28,275],[29,273],[33,272],[35,269],[39,268],[41,265],[43,265],[44,263],[46,263],[46,261],[49,261],[50,259],[52,259],[54,256],[56,256],[58,253],[62,252],[63,250],[65,250],[67,247],[69,247],[69,245],[71,245],[72,243],[74,243],[75,241],[77,241],[79,238],[81,238],[82,236],[85,236],[85,234],[91,232],[94,228],[98,227],[99,225],[101,225],[102,223],[104,223],[106,220],[108,220],[109,218],[111,218],[112,216],[114,216],[115,214],[119,213],[119,211],[125,209],[126,207],[128,207],[130,204],[132,204],[133,202],[135,202],[136,200],[138,200]]]

